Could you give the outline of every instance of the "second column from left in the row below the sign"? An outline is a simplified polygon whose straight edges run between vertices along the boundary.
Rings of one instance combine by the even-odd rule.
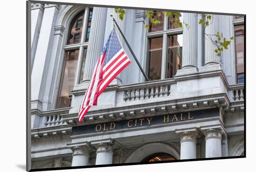
[[[113,161],[113,143],[98,143],[95,145],[96,163],[95,165],[112,164]]]

